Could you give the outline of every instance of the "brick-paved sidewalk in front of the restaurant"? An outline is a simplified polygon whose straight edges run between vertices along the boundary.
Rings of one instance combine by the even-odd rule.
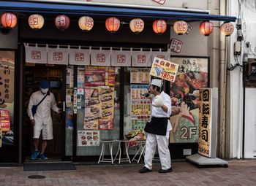
[[[159,163],[152,172],[140,174],[143,164],[76,166],[76,171],[23,171],[23,167],[0,167],[0,185],[256,185],[256,160],[230,160],[228,168],[197,168],[192,163],[173,163],[173,172],[159,174]],[[30,175],[45,179],[29,179]]]

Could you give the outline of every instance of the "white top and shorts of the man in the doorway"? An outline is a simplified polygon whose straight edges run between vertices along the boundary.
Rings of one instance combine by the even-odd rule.
[[[53,111],[59,113],[59,108],[56,105],[53,93],[50,93],[50,95],[46,96],[42,103],[39,104],[39,102],[44,97],[45,94],[42,94],[40,90],[32,93],[29,99],[29,106],[27,112],[30,120],[34,119],[35,121],[33,138],[39,139],[42,130],[42,139],[50,140],[53,139],[53,121],[50,116],[50,109],[53,109]],[[37,106],[37,113],[33,117],[31,108],[33,105],[37,104],[39,104],[39,106]]]

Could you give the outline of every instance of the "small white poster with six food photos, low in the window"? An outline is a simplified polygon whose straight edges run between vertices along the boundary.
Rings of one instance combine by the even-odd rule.
[[[99,131],[78,131],[78,146],[99,146]]]

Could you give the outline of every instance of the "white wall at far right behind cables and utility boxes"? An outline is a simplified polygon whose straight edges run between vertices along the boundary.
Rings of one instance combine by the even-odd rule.
[[[238,17],[238,1],[230,0],[230,15]],[[256,47],[256,28],[255,18],[256,9],[254,0],[241,1],[241,23],[244,41],[242,41],[241,55],[238,56],[238,62],[242,64],[244,53],[249,53],[249,57],[256,58],[245,46],[250,42],[253,50]],[[236,64],[233,55],[233,44],[237,40],[236,29],[230,36],[230,63]],[[229,64],[230,66],[230,64]],[[239,68],[230,71],[230,158],[242,158],[242,125],[243,125],[243,81],[242,72]],[[245,141],[244,158],[256,158],[256,88],[246,88],[245,95]],[[228,116],[227,116],[228,117]]]

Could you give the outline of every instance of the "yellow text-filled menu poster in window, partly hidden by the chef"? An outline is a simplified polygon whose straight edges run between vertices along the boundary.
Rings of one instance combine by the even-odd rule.
[[[131,123],[130,128],[143,129],[151,115],[151,101],[143,93],[148,92],[149,85],[131,85]]]

